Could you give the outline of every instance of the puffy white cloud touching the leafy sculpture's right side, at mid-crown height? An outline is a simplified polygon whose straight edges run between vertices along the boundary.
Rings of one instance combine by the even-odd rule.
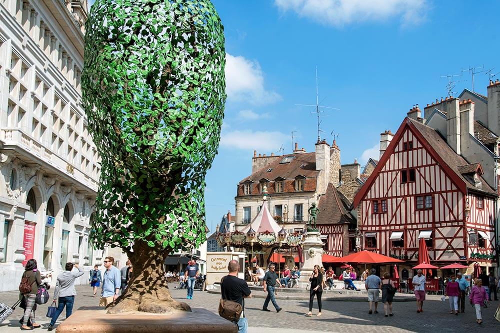
[[[281,99],[278,93],[264,88],[264,75],[257,61],[225,54],[225,91],[227,97],[252,104],[266,104]]]

